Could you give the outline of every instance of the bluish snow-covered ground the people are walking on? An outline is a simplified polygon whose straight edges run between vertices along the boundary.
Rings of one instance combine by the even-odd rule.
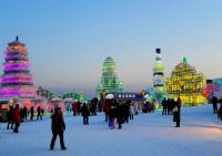
[[[222,155],[222,124],[218,124],[212,106],[182,110],[180,128],[172,116],[160,112],[139,114],[122,129],[109,129],[103,114],[90,117],[64,115],[64,142],[68,150],[60,150],[59,138],[54,150],[50,119],[24,123],[19,134],[0,124],[0,156],[212,156]]]

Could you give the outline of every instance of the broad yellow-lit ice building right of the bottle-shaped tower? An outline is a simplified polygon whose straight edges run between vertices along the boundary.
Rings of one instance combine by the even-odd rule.
[[[185,106],[193,106],[208,103],[203,96],[203,89],[206,85],[206,79],[202,73],[198,73],[184,58],[182,63],[178,64],[167,79],[167,91],[173,97],[181,97]]]

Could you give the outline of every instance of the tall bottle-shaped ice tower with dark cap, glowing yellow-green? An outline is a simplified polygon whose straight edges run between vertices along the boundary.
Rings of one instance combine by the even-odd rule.
[[[165,83],[164,83],[164,65],[161,59],[161,50],[155,49],[155,64],[153,67],[153,87],[157,93],[165,92]]]

